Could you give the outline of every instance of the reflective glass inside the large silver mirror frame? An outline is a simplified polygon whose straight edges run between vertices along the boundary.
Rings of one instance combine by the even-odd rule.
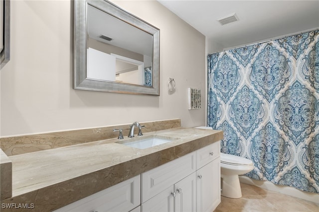
[[[87,77],[151,87],[153,35],[89,4],[87,16]]]

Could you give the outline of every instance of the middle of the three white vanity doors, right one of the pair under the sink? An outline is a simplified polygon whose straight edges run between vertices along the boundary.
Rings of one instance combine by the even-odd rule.
[[[196,212],[196,172],[174,185],[175,212]]]

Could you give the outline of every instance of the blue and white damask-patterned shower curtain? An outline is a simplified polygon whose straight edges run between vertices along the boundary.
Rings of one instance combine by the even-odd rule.
[[[207,104],[248,177],[319,193],[319,30],[208,55]]]

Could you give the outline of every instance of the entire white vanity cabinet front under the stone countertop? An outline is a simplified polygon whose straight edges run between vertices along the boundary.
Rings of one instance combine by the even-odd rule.
[[[54,212],[213,212],[220,203],[220,142]]]

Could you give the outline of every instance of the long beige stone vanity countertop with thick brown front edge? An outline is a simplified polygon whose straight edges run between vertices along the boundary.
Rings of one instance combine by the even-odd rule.
[[[220,130],[181,127],[143,136],[153,134],[178,139],[147,149],[107,139],[9,156],[12,197],[1,201],[1,212],[52,211],[223,138]],[[3,204],[15,204],[14,209]],[[29,209],[15,209],[18,204],[28,204],[24,206]]]

